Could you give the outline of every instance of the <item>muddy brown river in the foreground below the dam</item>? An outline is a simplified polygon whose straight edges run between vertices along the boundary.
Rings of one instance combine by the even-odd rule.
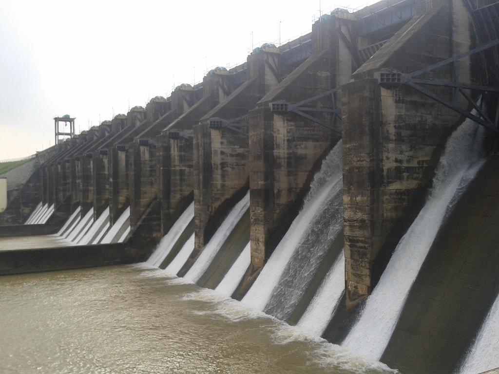
[[[0,277],[0,372],[393,373],[146,265]]]

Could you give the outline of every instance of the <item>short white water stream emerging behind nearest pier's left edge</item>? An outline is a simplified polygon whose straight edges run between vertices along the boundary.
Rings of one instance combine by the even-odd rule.
[[[338,307],[344,289],[345,252],[342,251],[296,326],[312,335],[321,336]]]

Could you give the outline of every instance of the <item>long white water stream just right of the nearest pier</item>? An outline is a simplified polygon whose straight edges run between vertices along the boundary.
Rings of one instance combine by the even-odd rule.
[[[374,360],[381,358],[446,214],[483,165],[482,142],[483,128],[470,120],[451,135],[425,206],[397,245],[344,346]]]

